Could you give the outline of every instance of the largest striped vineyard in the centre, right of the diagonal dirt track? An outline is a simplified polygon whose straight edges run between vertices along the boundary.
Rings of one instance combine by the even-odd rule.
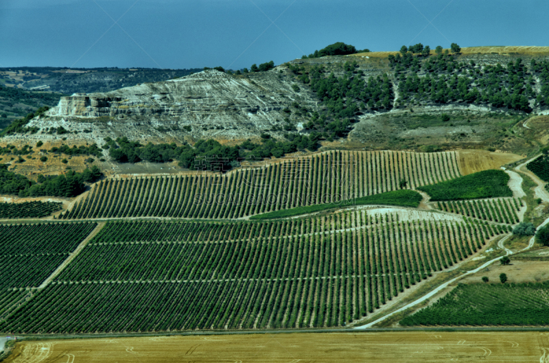
[[[0,331],[340,327],[509,230],[364,210],[266,222],[108,222]]]

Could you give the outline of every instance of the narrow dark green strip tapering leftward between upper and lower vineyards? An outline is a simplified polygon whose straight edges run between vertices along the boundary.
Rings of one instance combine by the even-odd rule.
[[[268,220],[273,218],[287,218],[294,215],[315,213],[318,211],[326,211],[328,209],[337,209],[342,207],[349,207],[353,205],[366,205],[366,204],[384,204],[384,205],[397,205],[401,207],[418,207],[421,202],[421,194],[413,190],[397,190],[388,191],[387,193],[375,194],[373,196],[366,196],[362,198],[356,198],[353,200],[343,200],[339,203],[327,203],[309,205],[307,207],[296,207],[292,209],[284,209],[282,211],[274,211],[269,213],[263,213],[259,215],[253,215],[250,220]]]

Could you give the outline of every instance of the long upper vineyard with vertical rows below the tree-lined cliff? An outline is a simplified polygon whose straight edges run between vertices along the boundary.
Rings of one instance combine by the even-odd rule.
[[[459,176],[456,152],[330,151],[224,175],[107,179],[62,218],[233,219]]]

